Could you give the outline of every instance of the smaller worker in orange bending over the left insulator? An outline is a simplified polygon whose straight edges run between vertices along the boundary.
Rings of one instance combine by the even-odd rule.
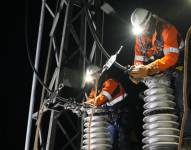
[[[87,71],[89,74],[94,74],[94,76],[96,76],[100,69],[95,65],[91,65],[88,67]],[[108,74],[106,72],[103,76],[103,82],[98,83],[96,98],[94,98],[95,83],[92,84],[93,88],[89,93],[87,103],[93,105],[95,100],[95,106],[105,105],[107,108],[109,107],[116,111],[118,113],[118,118],[112,126],[109,126],[112,135],[113,149],[134,150],[134,143],[131,142],[133,138],[130,136],[132,136],[132,130],[136,126],[136,108],[132,105],[127,106],[128,94],[123,85],[116,80],[113,74]],[[136,137],[136,135],[134,136]]]

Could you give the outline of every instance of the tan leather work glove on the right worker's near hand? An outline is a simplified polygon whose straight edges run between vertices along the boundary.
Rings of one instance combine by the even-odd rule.
[[[159,67],[156,65],[156,63],[150,63],[148,65],[135,65],[129,74],[131,77],[137,79],[156,73],[159,73]]]

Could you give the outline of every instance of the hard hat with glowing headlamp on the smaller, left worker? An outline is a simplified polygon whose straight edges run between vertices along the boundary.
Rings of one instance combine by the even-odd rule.
[[[90,65],[87,67],[85,82],[92,82],[96,77],[98,77],[101,68],[96,65]]]

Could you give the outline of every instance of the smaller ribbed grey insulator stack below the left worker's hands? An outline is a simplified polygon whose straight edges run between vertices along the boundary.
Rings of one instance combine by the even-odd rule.
[[[108,114],[104,109],[96,109],[84,118],[83,150],[110,150],[112,139],[108,130]]]

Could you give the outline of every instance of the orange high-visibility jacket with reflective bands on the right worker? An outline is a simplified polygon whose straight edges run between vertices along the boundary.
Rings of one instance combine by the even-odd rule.
[[[155,64],[155,66],[158,66],[159,71],[164,71],[177,63],[179,59],[180,48],[183,47],[183,41],[180,38],[177,29],[171,24],[164,23],[162,25],[160,34],[163,42],[160,49],[162,48],[164,56],[158,59],[154,59],[152,63]],[[150,36],[141,35],[141,37],[136,37],[134,64],[145,64],[145,59],[141,47],[145,48],[145,54],[147,58],[151,58],[154,53],[159,53],[156,36],[157,33],[155,31],[155,33]],[[146,48],[148,43],[151,45],[149,49]]]

